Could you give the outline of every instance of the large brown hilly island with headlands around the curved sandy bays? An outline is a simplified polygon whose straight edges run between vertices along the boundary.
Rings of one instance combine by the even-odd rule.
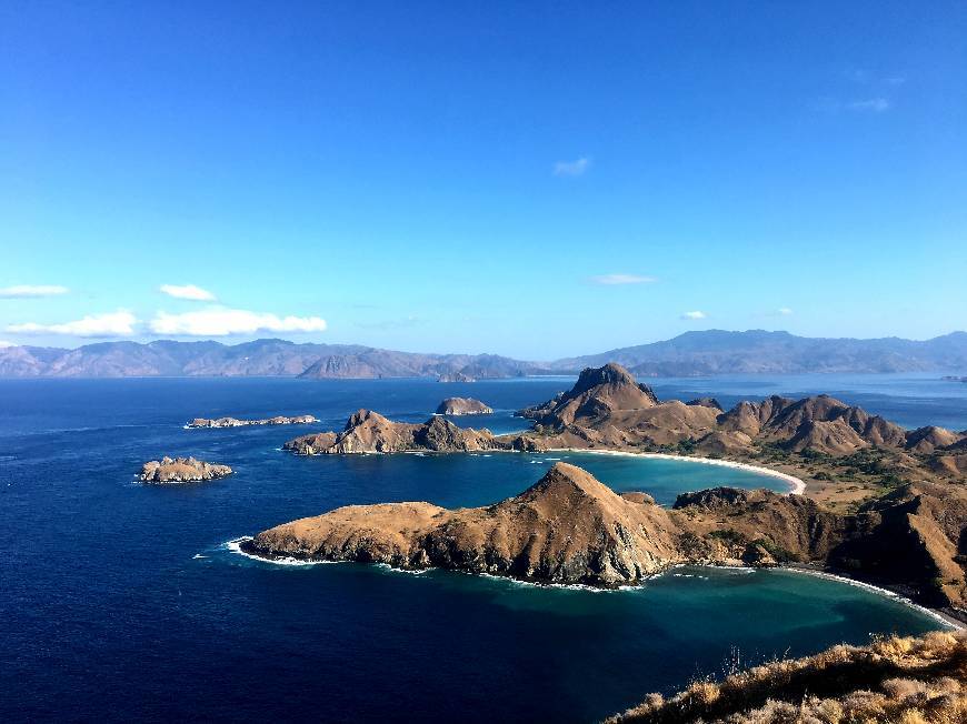
[[[360,410],[340,432],[302,435],[299,454],[608,450],[725,456],[805,481],[805,496],[719,487],[667,511],[617,495],[558,464],[520,495],[484,509],[429,503],[338,509],[260,533],[267,557],[455,567],[528,581],[617,585],[676,563],[808,564],[965,614],[967,434],[905,430],[827,395],[771,396],[722,411],[660,401],[621,365],[521,411],[525,433],[494,435],[443,418],[422,424]]]

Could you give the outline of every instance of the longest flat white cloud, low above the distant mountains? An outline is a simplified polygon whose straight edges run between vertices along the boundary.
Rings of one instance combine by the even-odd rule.
[[[173,336],[227,336],[256,332],[322,332],[326,320],[319,316],[277,316],[241,309],[213,306],[197,312],[158,312],[150,323],[156,334]]]

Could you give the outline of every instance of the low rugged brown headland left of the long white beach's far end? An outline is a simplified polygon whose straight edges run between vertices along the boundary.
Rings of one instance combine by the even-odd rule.
[[[282,445],[282,449],[300,455],[319,455],[407,451],[537,450],[538,446],[519,435],[495,438],[489,430],[458,428],[440,416],[433,416],[423,424],[417,425],[387,420],[371,410],[359,410],[349,418],[342,432],[302,435],[290,440]]]

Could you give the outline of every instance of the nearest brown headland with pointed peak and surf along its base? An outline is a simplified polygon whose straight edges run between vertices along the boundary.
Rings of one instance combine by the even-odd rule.
[[[259,533],[246,550],[614,586],[680,561],[677,537],[662,509],[625,500],[579,467],[557,463],[520,495],[488,507],[341,507]]]

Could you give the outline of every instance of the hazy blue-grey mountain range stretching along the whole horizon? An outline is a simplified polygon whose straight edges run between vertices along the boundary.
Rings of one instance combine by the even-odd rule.
[[[302,376],[315,379],[431,378],[481,380],[575,373],[618,362],[637,375],[727,373],[961,372],[967,333],[917,342],[805,338],[788,332],[686,332],[675,339],[568,358],[527,362],[496,354],[419,354],[358,344],[256,340],[101,342],[76,350],[0,349],[0,378]]]

